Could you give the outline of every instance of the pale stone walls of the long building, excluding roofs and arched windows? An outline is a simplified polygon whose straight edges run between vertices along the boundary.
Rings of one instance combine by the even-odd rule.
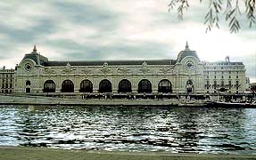
[[[190,50],[186,50],[189,52]],[[180,55],[180,54],[179,54]],[[29,65],[28,65],[29,64]],[[220,65],[219,63],[202,62],[194,56],[185,56],[175,65],[117,65],[103,63],[101,66],[70,66],[45,67],[37,65],[34,60],[25,59],[17,66],[15,74],[15,92],[43,92],[46,80],[53,80],[56,92],[61,92],[62,82],[70,80],[74,84],[74,92],[79,92],[80,83],[89,80],[93,84],[93,92],[98,92],[103,79],[111,82],[112,92],[118,92],[119,83],[127,79],[131,83],[132,92],[137,92],[138,84],[147,79],[152,84],[152,91],[158,92],[158,84],[168,79],[172,84],[172,92],[187,92],[192,87],[193,92],[218,92],[221,87],[227,92],[244,92],[245,68],[241,63]],[[186,84],[190,80],[192,85]],[[30,81],[30,85],[26,82]],[[207,85],[207,81],[209,85]],[[214,81],[217,82],[214,89]],[[224,82],[224,86],[221,82]],[[227,85],[231,81],[231,85]],[[236,85],[238,81],[238,85]],[[230,89],[229,89],[230,87]]]

